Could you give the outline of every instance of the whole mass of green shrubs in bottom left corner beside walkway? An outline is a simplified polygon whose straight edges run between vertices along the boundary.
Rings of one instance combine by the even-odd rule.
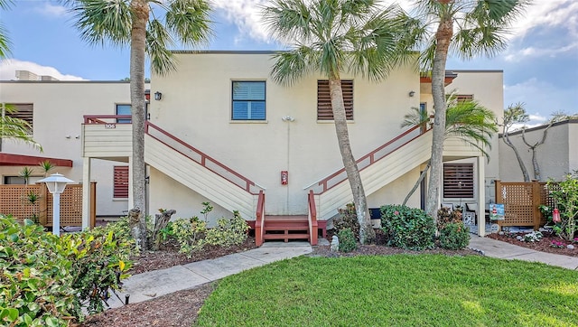
[[[118,288],[134,242],[95,229],[61,238],[31,220],[0,215],[0,322],[67,325],[101,311],[108,290]]]

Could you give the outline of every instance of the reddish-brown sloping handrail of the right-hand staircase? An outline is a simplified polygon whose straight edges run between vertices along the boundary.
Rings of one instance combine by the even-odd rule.
[[[387,141],[386,144],[384,145],[380,145],[378,148],[376,148],[375,150],[371,151],[368,154],[365,154],[364,156],[360,157],[358,160],[356,160],[356,163],[362,163],[364,161],[366,161],[367,159],[369,159],[369,163],[364,166],[361,167],[359,169],[359,171],[362,171],[364,169],[366,169],[368,166],[377,163],[379,160],[385,158],[387,155],[389,154],[393,154],[394,152],[396,152],[397,149],[403,147],[404,145],[407,145],[408,143],[412,142],[413,140],[415,140],[417,137],[424,135],[427,131],[429,131],[430,129],[432,129],[431,125],[428,124],[425,128],[422,125],[416,125],[413,126],[412,128],[409,128],[408,130],[406,130],[404,133],[397,135],[396,137],[392,138],[391,140]],[[409,140],[407,140],[405,143],[403,143],[402,145],[397,145],[395,146],[392,150],[386,152],[385,154],[380,154],[378,155],[378,153],[382,150],[384,150],[385,148],[387,148],[387,146],[393,145],[394,143],[396,143],[397,141],[399,141],[400,139],[406,137],[407,135],[410,135],[411,133],[414,133],[415,131],[418,131],[419,134],[415,135],[414,137],[410,138]],[[340,182],[346,181],[347,177],[343,178],[341,177],[339,180],[334,181],[333,184],[331,186],[329,185],[329,182],[331,182],[331,180],[335,179],[336,177],[340,176],[340,174],[345,172],[345,168],[341,168],[339,171],[335,172],[335,173],[331,173],[331,175],[323,178],[321,181],[316,182],[317,185],[322,186],[322,191],[321,192],[317,192],[315,194],[322,194],[323,192],[327,192],[329,190],[331,190],[331,188],[333,188],[334,186],[336,186],[337,184],[339,184]],[[314,185],[315,183],[313,183],[312,185]],[[310,186],[311,187],[311,186]]]

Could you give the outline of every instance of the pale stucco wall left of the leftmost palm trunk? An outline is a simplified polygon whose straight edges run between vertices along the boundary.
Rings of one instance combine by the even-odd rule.
[[[43,153],[29,145],[3,140],[2,152],[72,160],[72,167],[56,167],[75,182],[82,179],[80,126],[84,115],[115,115],[116,104],[130,104],[125,81],[0,81],[0,102],[33,104],[33,138]],[[70,135],[70,138],[67,137]],[[127,201],[113,201],[113,166],[126,165],[92,159],[92,180],[97,182],[97,215],[120,216]],[[0,174],[17,175],[22,167],[0,166]],[[36,169],[41,175],[40,169]],[[4,178],[2,178],[4,182]]]

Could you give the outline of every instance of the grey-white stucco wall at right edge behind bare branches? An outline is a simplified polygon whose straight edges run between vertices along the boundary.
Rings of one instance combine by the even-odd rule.
[[[530,128],[526,132],[528,144],[534,145],[542,140],[545,126]],[[526,165],[530,179],[535,179],[532,165],[532,152],[524,144],[519,132],[510,133],[509,139],[517,147],[517,151]],[[536,159],[540,167],[541,181],[548,178],[556,181],[564,179],[566,173],[578,169],[578,120],[555,124],[547,131],[544,145],[536,148]],[[524,177],[517,163],[516,154],[511,147],[499,142],[499,169],[504,182],[522,182]]]

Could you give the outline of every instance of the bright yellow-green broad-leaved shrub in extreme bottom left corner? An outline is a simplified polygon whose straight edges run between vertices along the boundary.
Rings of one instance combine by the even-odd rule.
[[[81,317],[71,265],[57,236],[0,216],[0,322],[50,326]]]

